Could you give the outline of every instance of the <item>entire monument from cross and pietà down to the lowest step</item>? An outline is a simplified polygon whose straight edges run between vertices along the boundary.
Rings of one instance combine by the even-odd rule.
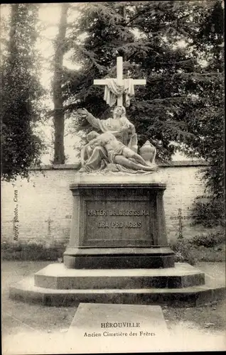
[[[86,109],[94,131],[81,149],[81,168],[70,185],[72,224],[63,263],[54,263],[11,286],[11,297],[46,305],[80,302],[196,305],[225,290],[205,284],[203,272],[174,263],[168,246],[163,206],[166,184],[158,180],[156,148],[146,141],[138,151],[136,129],[126,109],[134,85],[117,78],[104,84],[104,99],[113,117],[100,120]]]

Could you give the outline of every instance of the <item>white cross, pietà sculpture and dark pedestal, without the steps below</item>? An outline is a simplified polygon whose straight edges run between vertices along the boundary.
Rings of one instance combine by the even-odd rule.
[[[81,150],[82,168],[70,185],[74,205],[65,266],[173,267],[163,208],[166,185],[150,176],[157,169],[156,148],[147,141],[141,147],[141,155],[137,153],[136,129],[122,106],[122,94],[125,92],[131,99],[134,84],[145,84],[146,80],[130,79],[129,89],[125,89],[119,57],[117,79],[94,83],[105,84],[104,99],[110,106],[117,100],[117,107],[113,118],[107,120],[96,119],[86,109],[78,110],[101,133],[87,134],[87,144]],[[126,97],[127,106],[129,99]]]

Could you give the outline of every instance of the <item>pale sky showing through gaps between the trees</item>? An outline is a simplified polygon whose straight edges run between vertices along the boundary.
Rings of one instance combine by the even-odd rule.
[[[69,11],[68,22],[75,21],[77,16],[79,16],[79,3],[71,3],[72,9]],[[9,4],[1,5],[1,16],[4,18],[9,18]],[[41,27],[41,37],[38,38],[36,43],[37,50],[41,53],[43,58],[42,60],[42,70],[41,70],[41,84],[46,88],[50,89],[50,80],[53,77],[53,72],[50,71],[50,62],[53,59],[53,44],[52,40],[55,38],[55,35],[58,32],[58,21],[60,18],[60,4],[41,4],[39,10],[39,20]],[[4,33],[6,35],[6,33]],[[184,41],[178,42],[178,46],[183,48],[185,46]],[[79,66],[76,63],[72,63],[69,59],[70,53],[65,55],[63,65],[70,69],[79,69]],[[53,109],[53,102],[51,97],[47,97],[45,104]],[[68,134],[68,127],[71,126],[71,120],[65,120],[65,155],[68,156],[67,163],[72,164],[76,163],[78,160],[75,157],[75,150],[72,146],[75,145],[78,138],[76,135]],[[48,145],[48,153],[44,154],[42,157],[43,164],[49,164],[50,160],[53,159],[53,120],[49,119],[46,123],[40,124],[36,131],[41,135],[45,143]],[[176,153],[173,157],[173,160],[184,160],[184,155],[181,153]]]

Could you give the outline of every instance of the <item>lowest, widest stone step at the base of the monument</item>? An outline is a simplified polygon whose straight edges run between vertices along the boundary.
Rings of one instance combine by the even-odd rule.
[[[206,276],[205,285],[187,288],[57,290],[35,286],[34,278],[26,278],[11,285],[9,297],[57,307],[76,306],[80,302],[195,307],[225,297],[225,285],[219,285],[214,278]]]

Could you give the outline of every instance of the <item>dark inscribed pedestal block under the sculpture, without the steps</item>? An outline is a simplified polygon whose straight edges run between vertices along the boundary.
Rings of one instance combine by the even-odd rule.
[[[67,268],[169,268],[166,184],[146,176],[84,176],[73,196]]]

